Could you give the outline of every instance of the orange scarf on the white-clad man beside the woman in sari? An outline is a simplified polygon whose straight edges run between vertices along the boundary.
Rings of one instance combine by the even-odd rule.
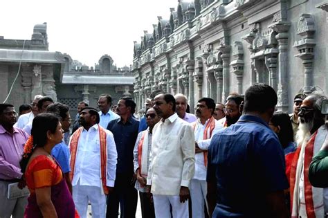
[[[104,128],[100,127],[98,125],[99,130],[99,141],[100,141],[100,180],[102,181],[102,190],[104,194],[108,194],[109,190],[106,185],[106,174],[107,174],[107,134],[106,131],[104,131]],[[74,168],[75,168],[75,159],[76,159],[76,153],[78,151],[78,141],[80,138],[80,135],[83,131],[83,127],[80,127],[78,130],[76,130],[72,136],[71,144],[69,145],[71,150],[71,172],[69,172],[69,175],[71,177],[71,180],[73,180],[74,176]]]

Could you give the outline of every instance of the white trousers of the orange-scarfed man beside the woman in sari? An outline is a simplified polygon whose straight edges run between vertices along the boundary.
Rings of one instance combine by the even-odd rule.
[[[93,218],[106,217],[106,195],[101,193],[101,189],[97,186],[73,185],[73,201],[75,208],[81,218],[86,218],[88,203],[91,203],[91,211]]]

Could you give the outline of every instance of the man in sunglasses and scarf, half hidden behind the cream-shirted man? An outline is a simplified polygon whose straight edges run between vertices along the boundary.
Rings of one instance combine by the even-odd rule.
[[[152,151],[152,132],[156,123],[161,120],[153,108],[149,108],[145,115],[147,129],[138,134],[134,145],[134,172],[136,173],[136,190],[139,191],[141,214],[143,218],[155,217],[154,203],[147,194],[147,174],[149,169],[149,154]]]

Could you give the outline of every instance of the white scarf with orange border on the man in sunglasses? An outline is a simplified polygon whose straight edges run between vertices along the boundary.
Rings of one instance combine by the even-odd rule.
[[[140,174],[146,179],[148,174],[148,134],[149,127],[143,131],[143,134],[138,143],[138,163]]]

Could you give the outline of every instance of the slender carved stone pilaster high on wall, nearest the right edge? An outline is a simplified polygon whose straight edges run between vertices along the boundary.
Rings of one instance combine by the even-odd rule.
[[[311,15],[302,14],[298,20],[298,35],[302,39],[295,42],[294,47],[298,49],[298,55],[304,65],[304,93],[311,93],[313,86],[313,50],[316,46],[314,39],[314,21]]]

